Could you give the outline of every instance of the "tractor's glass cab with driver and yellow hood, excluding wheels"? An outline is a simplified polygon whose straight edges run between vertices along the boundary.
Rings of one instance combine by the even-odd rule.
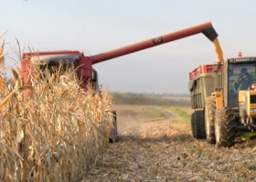
[[[228,106],[237,107],[240,123],[256,128],[256,57],[228,60]]]

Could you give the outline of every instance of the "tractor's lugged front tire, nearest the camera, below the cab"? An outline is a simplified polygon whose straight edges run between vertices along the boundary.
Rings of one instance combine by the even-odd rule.
[[[215,137],[217,147],[234,146],[236,137],[236,123],[232,109],[225,107],[216,109]]]

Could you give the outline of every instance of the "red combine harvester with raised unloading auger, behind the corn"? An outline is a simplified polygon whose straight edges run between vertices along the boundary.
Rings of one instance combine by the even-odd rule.
[[[156,45],[163,45],[165,43],[175,41],[190,35],[197,35],[203,33],[210,41],[214,41],[218,34],[214,30],[210,22],[188,27],[186,29],[176,31],[167,35],[161,35],[149,40],[145,40],[133,45],[123,46],[121,48],[101,53],[95,56],[84,56],[79,51],[55,51],[55,52],[39,52],[39,53],[24,53],[21,60],[21,71],[24,82],[30,85],[29,65],[33,60],[39,60],[42,66],[58,66],[60,63],[67,64],[69,67],[77,71],[77,75],[81,81],[81,87],[87,90],[90,84],[95,90],[98,89],[98,76],[96,70],[92,65],[101,63],[103,61],[131,54],[133,52],[141,51],[146,48],[154,47]],[[114,115],[115,117],[115,115]],[[110,141],[115,142],[117,137],[116,121],[114,122],[115,129],[112,131]]]

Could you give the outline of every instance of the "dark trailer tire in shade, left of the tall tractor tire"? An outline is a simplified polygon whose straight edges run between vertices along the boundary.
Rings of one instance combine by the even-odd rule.
[[[195,111],[194,115],[194,132],[197,139],[206,138],[206,129],[205,129],[205,111]]]

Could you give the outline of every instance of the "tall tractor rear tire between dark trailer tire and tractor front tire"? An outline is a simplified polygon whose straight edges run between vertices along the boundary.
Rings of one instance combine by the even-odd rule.
[[[215,144],[215,112],[216,103],[214,97],[209,96],[206,100],[205,121],[206,136],[209,144]]]

